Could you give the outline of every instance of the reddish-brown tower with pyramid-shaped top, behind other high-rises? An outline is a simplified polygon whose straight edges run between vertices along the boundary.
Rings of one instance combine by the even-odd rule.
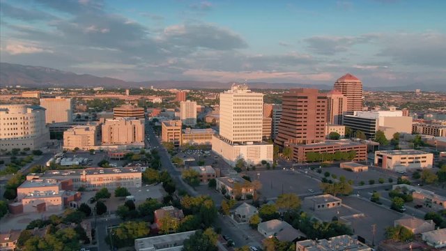
[[[347,98],[347,114],[362,111],[362,82],[357,77],[347,73],[334,83],[334,89]]]

